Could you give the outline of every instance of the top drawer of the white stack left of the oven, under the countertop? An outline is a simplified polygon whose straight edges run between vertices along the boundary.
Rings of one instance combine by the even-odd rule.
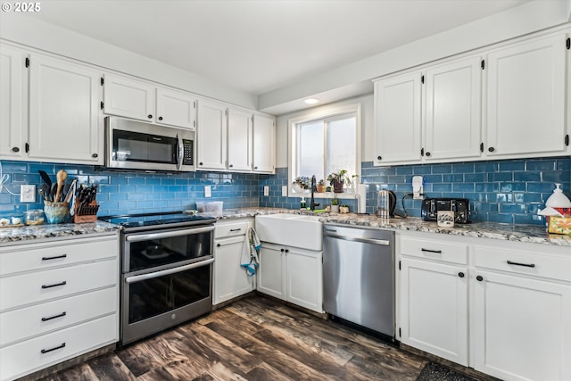
[[[70,240],[50,244],[25,244],[5,249],[5,252],[0,254],[0,276],[118,255],[119,239],[116,236],[111,239],[81,239],[80,242]]]

